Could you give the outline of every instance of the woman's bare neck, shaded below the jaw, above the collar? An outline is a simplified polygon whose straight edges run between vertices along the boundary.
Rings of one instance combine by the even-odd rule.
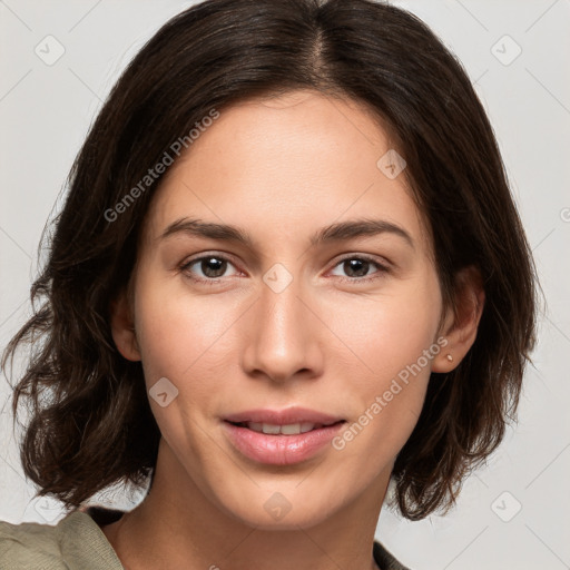
[[[374,570],[372,546],[389,476],[315,524],[261,528],[216,503],[163,440],[147,497],[102,530],[129,570]]]

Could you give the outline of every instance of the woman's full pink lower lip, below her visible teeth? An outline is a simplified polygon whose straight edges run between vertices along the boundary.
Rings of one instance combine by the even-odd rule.
[[[234,446],[245,456],[271,465],[291,465],[314,456],[338,433],[345,422],[296,435],[271,435],[224,421]]]

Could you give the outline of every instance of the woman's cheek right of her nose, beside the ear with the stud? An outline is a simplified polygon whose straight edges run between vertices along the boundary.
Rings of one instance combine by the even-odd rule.
[[[338,387],[340,397],[358,401],[360,406],[337,449],[355,461],[371,458],[374,470],[399,452],[419,420],[432,361],[442,350],[434,338],[441,309],[439,284],[430,275],[374,302],[363,298],[360,305],[338,306],[337,326],[357,356],[352,358],[350,385]]]

